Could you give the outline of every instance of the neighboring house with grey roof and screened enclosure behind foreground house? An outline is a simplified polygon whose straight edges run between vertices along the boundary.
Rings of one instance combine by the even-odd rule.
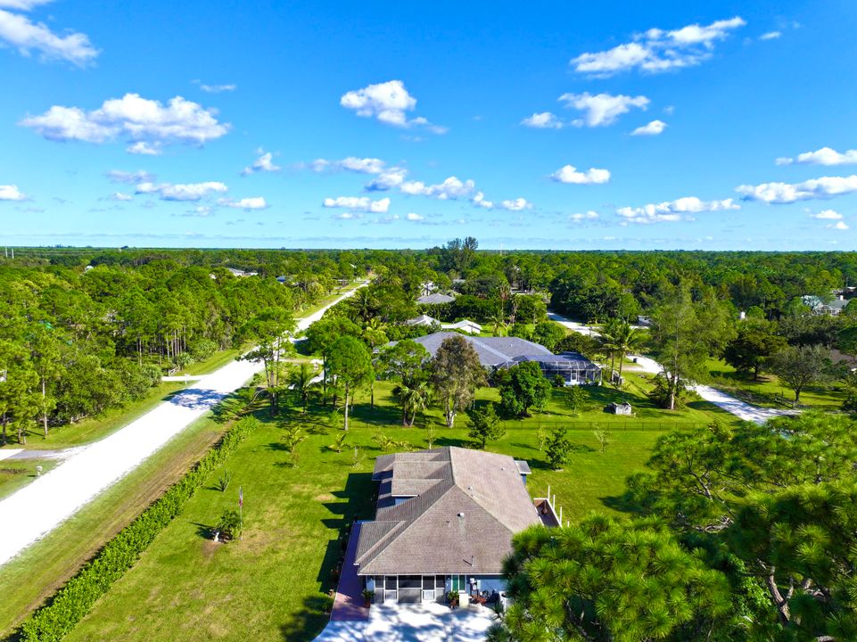
[[[523,361],[535,361],[548,379],[556,374],[563,377],[565,385],[578,383],[600,383],[601,368],[578,352],[563,352],[555,355],[539,343],[518,337],[479,337],[450,332],[426,334],[414,339],[434,356],[441,343],[450,336],[463,336],[476,350],[479,361],[489,372],[499,368],[515,366]]]

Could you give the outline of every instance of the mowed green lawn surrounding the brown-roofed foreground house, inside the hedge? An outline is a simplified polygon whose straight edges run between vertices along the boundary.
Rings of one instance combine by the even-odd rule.
[[[482,397],[493,391],[483,391]],[[402,442],[397,449],[424,449],[430,432],[395,425],[398,411],[389,384],[375,390],[376,407],[359,399],[356,415],[393,417],[383,428],[352,424],[342,453],[328,447],[340,432],[327,423],[328,408],[307,415],[290,411],[285,420],[264,423],[224,466],[233,474],[223,493],[219,471],[153,542],[138,564],[119,580],[70,635],[70,640],[311,640],[327,620],[323,595],[333,586],[330,570],[342,555],[345,523],[371,518],[374,484],[370,473],[382,454],[375,435],[383,430]],[[702,411],[688,411],[691,415]],[[301,425],[306,439],[299,458],[283,447],[283,424]],[[466,446],[466,416],[456,429],[434,429],[434,446]],[[672,425],[672,424],[670,424]],[[590,430],[568,433],[574,449],[564,471],[548,470],[537,437],[538,418],[510,428],[489,449],[526,459],[533,473],[532,496],[548,484],[575,520],[589,510],[612,510],[624,479],[644,468],[658,430],[627,430],[614,424],[605,453]],[[355,464],[354,447],[358,447]],[[237,506],[244,493],[243,541],[216,544],[205,532],[218,516]]]

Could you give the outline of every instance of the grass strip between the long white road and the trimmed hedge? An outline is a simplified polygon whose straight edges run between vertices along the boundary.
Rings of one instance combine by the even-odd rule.
[[[0,566],[0,638],[184,474],[222,431],[222,425],[208,418],[192,424],[44,539]]]

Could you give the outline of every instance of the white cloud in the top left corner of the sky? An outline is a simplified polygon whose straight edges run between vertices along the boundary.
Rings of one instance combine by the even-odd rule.
[[[86,67],[98,55],[86,34],[68,33],[58,36],[44,22],[31,21],[21,13],[50,0],[0,0],[0,41],[16,48],[22,55],[37,52],[45,61],[66,61]]]

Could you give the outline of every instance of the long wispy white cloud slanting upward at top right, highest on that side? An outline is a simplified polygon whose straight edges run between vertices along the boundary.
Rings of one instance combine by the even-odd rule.
[[[692,24],[681,29],[648,29],[630,43],[595,53],[581,53],[571,64],[575,71],[608,77],[638,69],[659,73],[692,67],[712,56],[714,43],[729,37],[733,29],[746,22],[736,16],[709,25]]]

